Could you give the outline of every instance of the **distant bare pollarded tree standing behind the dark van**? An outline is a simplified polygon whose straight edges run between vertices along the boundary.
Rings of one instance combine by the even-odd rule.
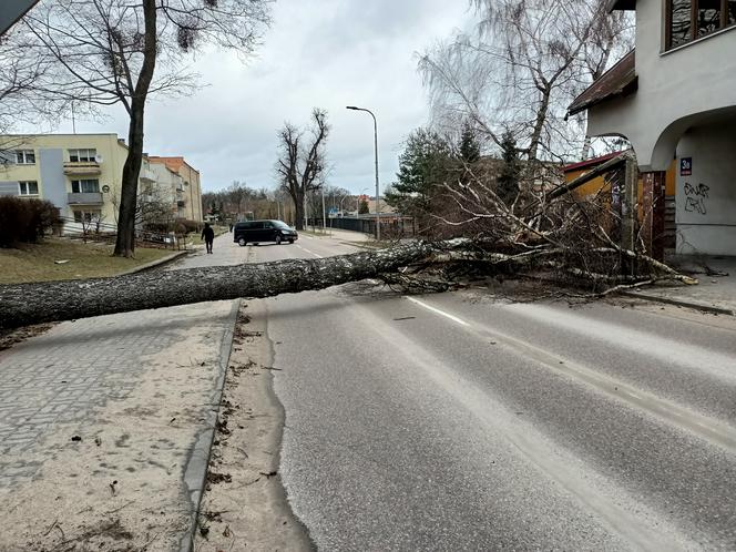
[[[276,174],[280,186],[294,202],[297,229],[304,229],[305,196],[319,190],[327,175],[326,142],[329,130],[327,112],[315,108],[308,131],[287,122],[278,132],[280,152]]]

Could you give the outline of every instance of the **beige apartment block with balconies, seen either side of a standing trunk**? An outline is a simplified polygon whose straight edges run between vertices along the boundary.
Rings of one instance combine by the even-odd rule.
[[[0,195],[50,201],[59,207],[68,233],[91,223],[114,229],[127,157],[127,146],[116,134],[0,136]],[[187,191],[178,173],[161,171],[144,157],[139,195],[142,201],[156,197],[170,203],[172,217],[193,218],[185,203],[194,204],[195,219],[202,221],[200,175],[191,171],[196,173],[196,186]]]

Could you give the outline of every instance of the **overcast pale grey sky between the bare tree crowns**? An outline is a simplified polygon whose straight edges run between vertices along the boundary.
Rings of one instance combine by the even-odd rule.
[[[204,191],[234,180],[276,185],[276,132],[327,110],[331,124],[328,183],[354,193],[375,190],[372,120],[378,119],[381,191],[390,184],[407,134],[428,121],[415,53],[466,27],[464,0],[278,0],[256,58],[206,53],[193,61],[205,88],[191,98],[151,102],[145,151],[183,155],[202,173]],[[122,109],[76,132],[127,135]],[[60,132],[71,132],[71,123]]]

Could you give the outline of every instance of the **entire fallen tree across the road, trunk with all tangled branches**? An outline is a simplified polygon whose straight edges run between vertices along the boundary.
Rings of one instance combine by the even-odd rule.
[[[566,185],[554,185],[556,180],[544,183],[545,175],[554,173],[543,166],[539,172],[531,165],[510,204],[497,194],[495,182],[467,167],[470,177],[443,183],[439,192],[442,208],[429,213],[441,222],[438,229],[443,234],[433,241],[319,259],[0,286],[0,329],[192,303],[272,297],[367,278],[410,292],[436,292],[467,276],[532,277],[584,288],[589,297],[661,280],[697,283],[648,256],[646,243],[633,233],[638,224],[636,196],[628,176],[628,185],[622,187],[622,178],[630,174],[622,170],[626,163],[623,155]],[[594,196],[570,193],[611,170]],[[614,190],[628,190],[626,201]],[[626,228],[632,229],[628,237]],[[454,237],[458,235],[467,237]]]

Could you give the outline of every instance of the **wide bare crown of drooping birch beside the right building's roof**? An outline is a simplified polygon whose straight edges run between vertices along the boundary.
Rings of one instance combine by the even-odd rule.
[[[529,160],[579,151],[582,126],[564,124],[584,83],[631,44],[625,17],[597,0],[473,0],[480,22],[419,59],[436,122],[462,119],[500,146],[510,132]],[[582,120],[576,120],[582,123]]]

